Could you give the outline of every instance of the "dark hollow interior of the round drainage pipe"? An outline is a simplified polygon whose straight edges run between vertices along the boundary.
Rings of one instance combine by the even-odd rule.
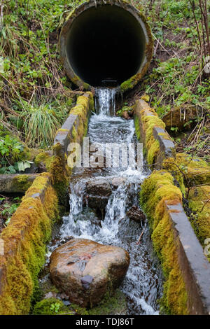
[[[145,36],[141,25],[118,6],[89,8],[73,21],[66,55],[73,71],[85,83],[102,80],[123,83],[139,70],[144,59]]]

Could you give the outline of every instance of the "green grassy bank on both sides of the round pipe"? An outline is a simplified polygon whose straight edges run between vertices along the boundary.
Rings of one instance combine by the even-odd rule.
[[[59,31],[70,10],[84,1],[3,0],[0,19],[0,128],[29,147],[52,144],[74,104],[75,91],[59,63]],[[198,35],[188,0],[130,0],[151,25],[155,55],[137,96],[149,94],[164,116],[172,106],[194,104],[209,119],[209,79],[202,77]],[[198,0],[195,15],[200,24]],[[126,47],[126,45],[125,45]],[[5,135],[5,133],[4,133]],[[3,139],[1,134],[1,139]]]

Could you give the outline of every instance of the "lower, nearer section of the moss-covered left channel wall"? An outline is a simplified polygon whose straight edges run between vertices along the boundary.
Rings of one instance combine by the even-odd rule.
[[[38,272],[45,262],[46,243],[57,221],[58,200],[51,175],[38,176],[1,233],[0,314],[29,314],[38,297]]]

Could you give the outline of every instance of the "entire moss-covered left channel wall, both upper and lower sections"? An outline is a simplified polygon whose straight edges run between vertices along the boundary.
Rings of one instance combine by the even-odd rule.
[[[78,97],[69,118],[57,131],[53,155],[43,152],[36,157],[36,163],[43,162],[48,172],[34,180],[1,233],[4,250],[0,255],[0,314],[28,314],[31,302],[38,296],[38,272],[45,262],[46,244],[52,224],[59,218],[71,175],[68,145],[82,142],[93,110],[91,92]]]

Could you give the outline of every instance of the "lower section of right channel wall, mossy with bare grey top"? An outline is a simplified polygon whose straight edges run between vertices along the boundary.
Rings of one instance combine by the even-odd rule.
[[[153,171],[142,183],[140,204],[165,276],[161,310],[167,314],[209,314],[210,266],[181,202],[181,190],[165,170]]]

